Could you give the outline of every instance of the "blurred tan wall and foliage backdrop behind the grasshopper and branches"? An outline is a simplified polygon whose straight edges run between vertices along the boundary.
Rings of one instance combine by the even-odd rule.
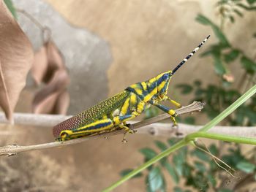
[[[182,105],[197,100],[206,101],[206,107],[200,114],[178,118],[178,122],[203,125],[255,85],[256,1],[12,3],[18,23],[37,55],[15,112],[75,115],[132,83],[173,69],[208,34],[208,42],[173,77],[168,93]],[[63,85],[61,91],[50,85],[55,82],[53,74],[48,78],[39,73],[43,58],[38,55],[48,42],[53,42],[52,47],[62,60],[48,66],[47,74],[65,69],[63,76],[56,76],[56,81]],[[49,46],[47,51],[52,49]],[[52,58],[56,58],[54,54]],[[54,91],[49,92],[49,88]],[[59,95],[49,99],[56,92]],[[255,104],[254,96],[221,125],[255,126]],[[146,118],[157,114],[157,110],[148,110]],[[7,128],[10,126],[1,125],[2,131]],[[1,157],[0,187],[2,191],[101,191],[118,180],[121,173],[134,169],[176,141],[144,134],[129,135],[127,144],[121,139],[118,135]],[[1,137],[1,145],[34,145],[53,140],[50,127],[15,125],[11,135]],[[222,142],[204,143],[211,153],[238,169],[242,179],[223,175],[224,171],[208,155],[186,148],[167,159],[170,166],[154,166],[115,191],[252,191],[255,149]],[[249,152],[245,155],[243,150]],[[151,177],[152,174],[156,176]]]

